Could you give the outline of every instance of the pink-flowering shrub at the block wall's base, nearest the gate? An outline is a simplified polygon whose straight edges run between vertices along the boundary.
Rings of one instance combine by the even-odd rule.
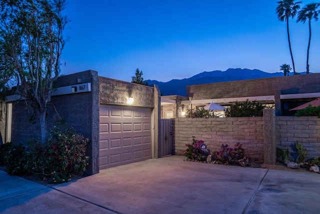
[[[197,140],[195,136],[192,136],[192,143],[185,144],[188,147],[182,151],[182,155],[186,156],[189,161],[206,161],[209,152],[201,150],[200,145],[202,143],[203,140]]]

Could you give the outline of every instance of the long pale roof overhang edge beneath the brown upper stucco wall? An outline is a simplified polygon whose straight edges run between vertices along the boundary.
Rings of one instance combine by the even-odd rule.
[[[320,97],[320,92],[316,93],[293,93],[293,94],[280,94],[280,99],[298,99],[298,98],[313,98]],[[267,96],[243,96],[243,97],[230,97],[230,98],[213,98],[213,99],[194,99],[194,100],[182,100],[181,104],[207,104],[214,102],[217,104],[229,104],[235,101],[274,101],[274,95]]]

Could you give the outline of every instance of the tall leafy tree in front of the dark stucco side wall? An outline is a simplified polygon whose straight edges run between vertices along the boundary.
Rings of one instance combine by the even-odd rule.
[[[11,74],[8,78],[17,85],[15,93],[36,106],[42,142],[47,138],[52,84],[60,73],[62,32],[68,21],[62,15],[65,5],[65,0],[0,2],[0,67]]]

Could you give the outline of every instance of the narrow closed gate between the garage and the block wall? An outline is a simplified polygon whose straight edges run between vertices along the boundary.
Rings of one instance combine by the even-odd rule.
[[[161,157],[172,154],[172,119],[161,119],[160,124]]]

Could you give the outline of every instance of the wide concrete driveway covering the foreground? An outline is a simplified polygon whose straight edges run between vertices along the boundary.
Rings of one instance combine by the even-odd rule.
[[[320,213],[320,174],[149,159],[46,187],[0,171],[1,213]]]

